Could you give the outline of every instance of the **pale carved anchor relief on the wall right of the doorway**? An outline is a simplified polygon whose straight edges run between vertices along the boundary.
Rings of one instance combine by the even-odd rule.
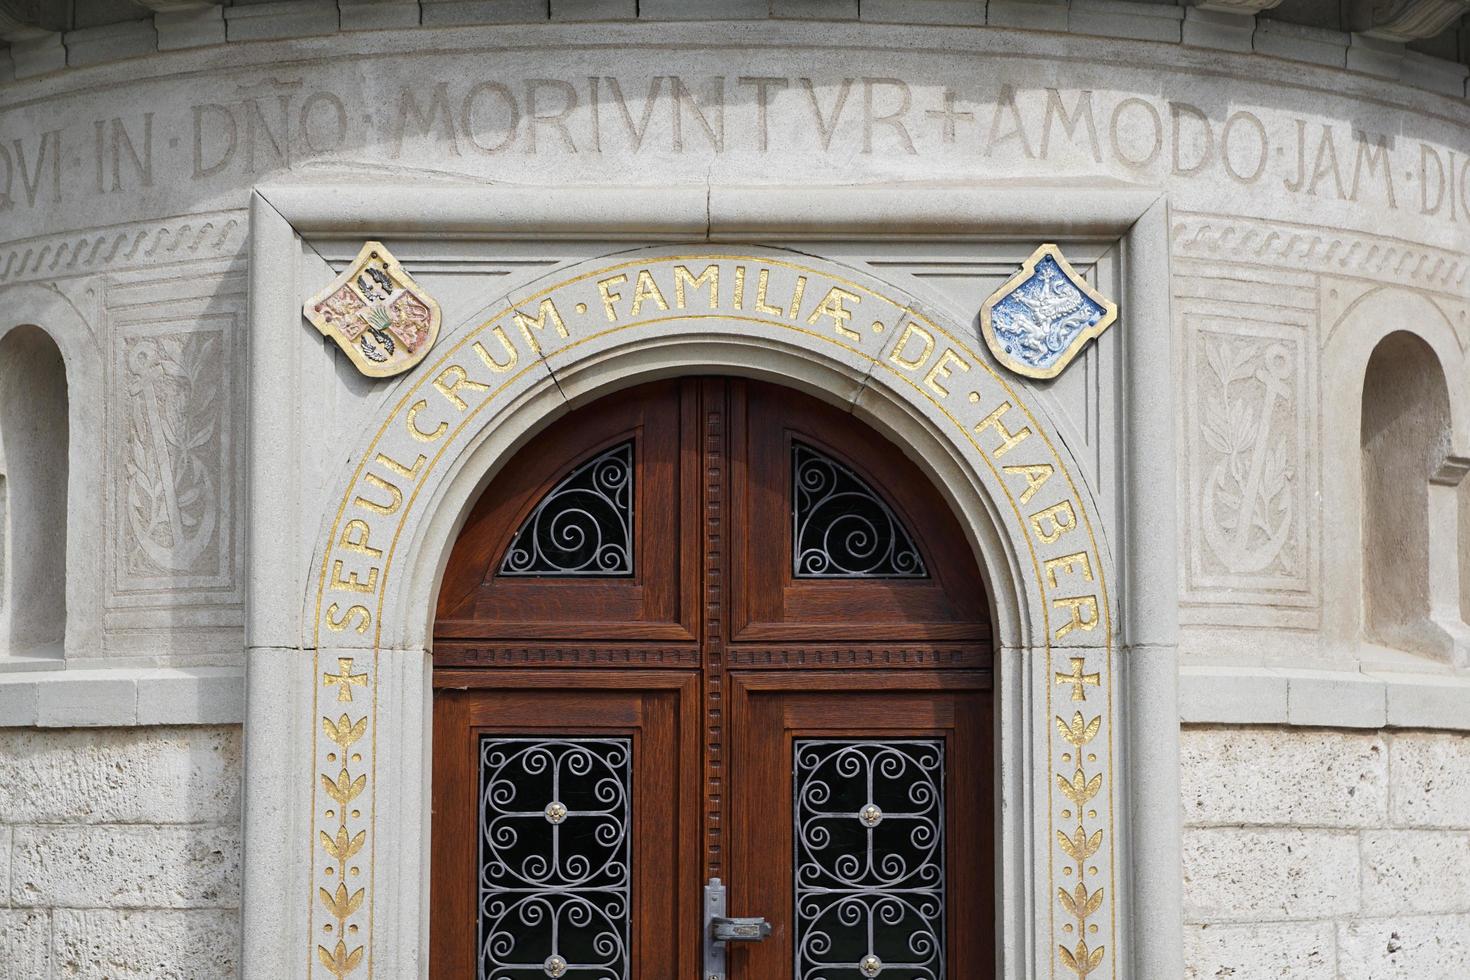
[[[1200,505],[1205,542],[1225,569],[1261,573],[1288,567],[1295,472],[1291,426],[1276,426],[1280,407],[1292,410],[1292,356],[1286,344],[1241,338],[1204,339],[1207,379],[1201,432],[1217,455],[1205,470]]]

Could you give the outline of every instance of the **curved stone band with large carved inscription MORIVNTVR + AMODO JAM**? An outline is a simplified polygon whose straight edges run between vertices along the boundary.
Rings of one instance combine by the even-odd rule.
[[[691,63],[651,76],[612,66],[528,76],[485,53],[445,56],[431,66],[437,78],[416,71],[412,81],[395,63],[366,84],[338,79],[344,69],[331,62],[265,79],[220,73],[187,94],[123,101],[103,93],[88,119],[53,116],[44,104],[0,109],[0,213],[51,213],[54,228],[57,207],[82,216],[87,201],[103,201],[125,212],[150,188],[243,191],[268,173],[332,162],[403,178],[432,160],[437,175],[520,179],[516,160],[531,156],[548,178],[606,178],[620,166],[631,176],[642,169],[637,160],[659,159],[672,176],[694,179],[703,160],[738,156],[782,175],[825,173],[832,160],[886,175],[923,159],[935,173],[972,178],[1035,175],[1048,163],[1060,175],[1197,182],[1213,195],[1258,188],[1470,220],[1470,153],[1433,134],[1398,135],[1391,112],[1374,129],[1333,118],[1354,118],[1349,107],[1320,118],[1274,109],[1267,91],[1252,101],[1242,88],[1222,109],[1195,104],[1169,75],[1113,73],[1114,90],[1064,88],[1047,84],[1041,65],[976,57],[985,71],[932,72],[885,51],[885,68],[870,75],[842,66],[719,73]]]

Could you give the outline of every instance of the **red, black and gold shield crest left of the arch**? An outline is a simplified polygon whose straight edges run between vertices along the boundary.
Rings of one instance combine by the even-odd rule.
[[[353,264],[301,311],[369,378],[409,370],[440,335],[440,304],[381,241],[363,244]]]

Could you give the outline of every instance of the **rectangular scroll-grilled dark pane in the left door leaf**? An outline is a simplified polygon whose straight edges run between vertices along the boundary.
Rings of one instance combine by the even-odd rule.
[[[479,980],[628,980],[632,742],[484,736]]]

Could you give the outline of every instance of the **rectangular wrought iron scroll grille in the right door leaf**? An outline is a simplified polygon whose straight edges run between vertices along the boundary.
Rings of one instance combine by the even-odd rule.
[[[797,980],[942,980],[944,742],[797,739]]]

